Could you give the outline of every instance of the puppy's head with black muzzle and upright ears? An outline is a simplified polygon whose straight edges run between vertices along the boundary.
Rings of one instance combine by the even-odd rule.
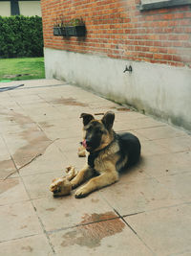
[[[80,117],[84,125],[82,145],[87,151],[99,151],[110,144],[114,137],[114,112],[106,112],[101,120],[87,113],[82,113]]]

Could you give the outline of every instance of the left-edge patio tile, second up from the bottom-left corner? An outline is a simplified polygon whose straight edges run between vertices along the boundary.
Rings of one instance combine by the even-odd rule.
[[[0,242],[43,232],[30,201],[0,206]]]

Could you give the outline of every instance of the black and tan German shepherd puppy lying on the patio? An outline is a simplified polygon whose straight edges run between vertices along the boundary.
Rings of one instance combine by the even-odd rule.
[[[82,145],[89,152],[85,168],[71,181],[73,188],[89,181],[75,192],[75,198],[84,198],[91,192],[118,180],[118,173],[138,162],[140,143],[129,133],[116,133],[113,129],[115,113],[108,111],[101,120],[82,113]]]

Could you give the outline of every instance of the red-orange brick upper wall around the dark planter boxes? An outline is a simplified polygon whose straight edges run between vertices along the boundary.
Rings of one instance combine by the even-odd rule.
[[[41,0],[46,48],[191,68],[190,6],[140,12],[140,0]],[[53,36],[53,23],[82,17],[85,38]]]

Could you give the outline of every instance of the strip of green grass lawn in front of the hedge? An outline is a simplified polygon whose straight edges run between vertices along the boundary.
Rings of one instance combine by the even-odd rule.
[[[1,58],[0,82],[44,79],[44,58]]]

